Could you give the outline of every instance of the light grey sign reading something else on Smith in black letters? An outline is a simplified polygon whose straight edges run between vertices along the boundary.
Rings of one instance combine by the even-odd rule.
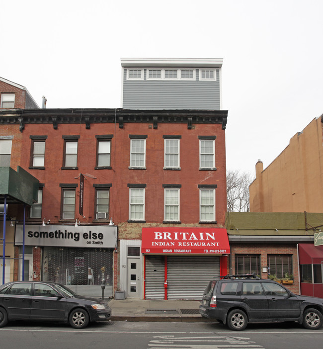
[[[15,245],[22,245],[23,225],[16,225]],[[97,225],[25,225],[26,246],[115,248],[117,227]]]

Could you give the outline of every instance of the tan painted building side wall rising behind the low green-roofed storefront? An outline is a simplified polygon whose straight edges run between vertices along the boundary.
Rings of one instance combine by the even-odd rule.
[[[250,212],[323,212],[323,117],[294,135],[249,187]]]

